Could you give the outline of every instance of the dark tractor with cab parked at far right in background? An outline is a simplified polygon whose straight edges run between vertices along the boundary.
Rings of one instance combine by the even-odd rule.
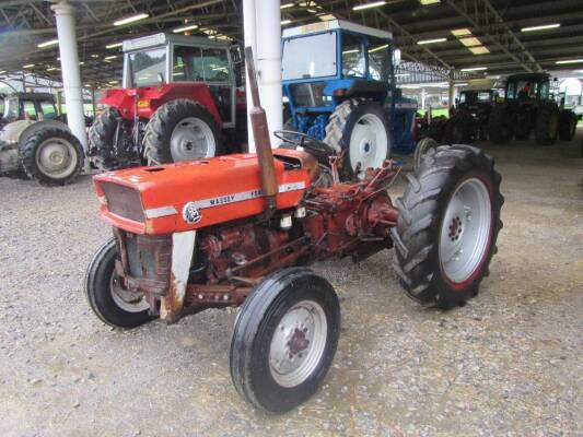
[[[575,135],[576,116],[564,108],[563,101],[553,90],[556,81],[547,73],[511,75],[505,97],[490,114],[490,141],[504,143],[512,138],[527,140],[534,132],[538,144],[555,144],[557,138],[571,141]]]

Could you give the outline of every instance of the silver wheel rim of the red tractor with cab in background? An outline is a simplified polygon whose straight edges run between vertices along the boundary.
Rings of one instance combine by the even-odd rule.
[[[214,156],[217,144],[212,129],[200,118],[180,120],[172,131],[170,151],[174,162]]]

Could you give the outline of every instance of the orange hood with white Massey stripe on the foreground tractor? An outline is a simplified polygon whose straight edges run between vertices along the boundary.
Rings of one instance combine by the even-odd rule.
[[[305,152],[290,150],[277,150],[275,157],[277,208],[295,208],[317,176],[317,162]],[[130,168],[93,180],[102,217],[135,234],[193,231],[265,210],[255,154]]]

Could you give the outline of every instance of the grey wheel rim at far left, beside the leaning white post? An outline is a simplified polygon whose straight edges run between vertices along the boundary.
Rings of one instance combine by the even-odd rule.
[[[43,175],[50,178],[66,178],[79,163],[73,144],[62,138],[49,138],[36,149],[35,162]]]

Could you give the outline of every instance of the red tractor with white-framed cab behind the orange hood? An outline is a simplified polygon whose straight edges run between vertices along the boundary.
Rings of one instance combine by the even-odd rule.
[[[89,133],[93,162],[115,169],[236,150],[247,126],[232,55],[226,42],[194,36],[124,42],[124,88],[102,99],[107,108]]]

